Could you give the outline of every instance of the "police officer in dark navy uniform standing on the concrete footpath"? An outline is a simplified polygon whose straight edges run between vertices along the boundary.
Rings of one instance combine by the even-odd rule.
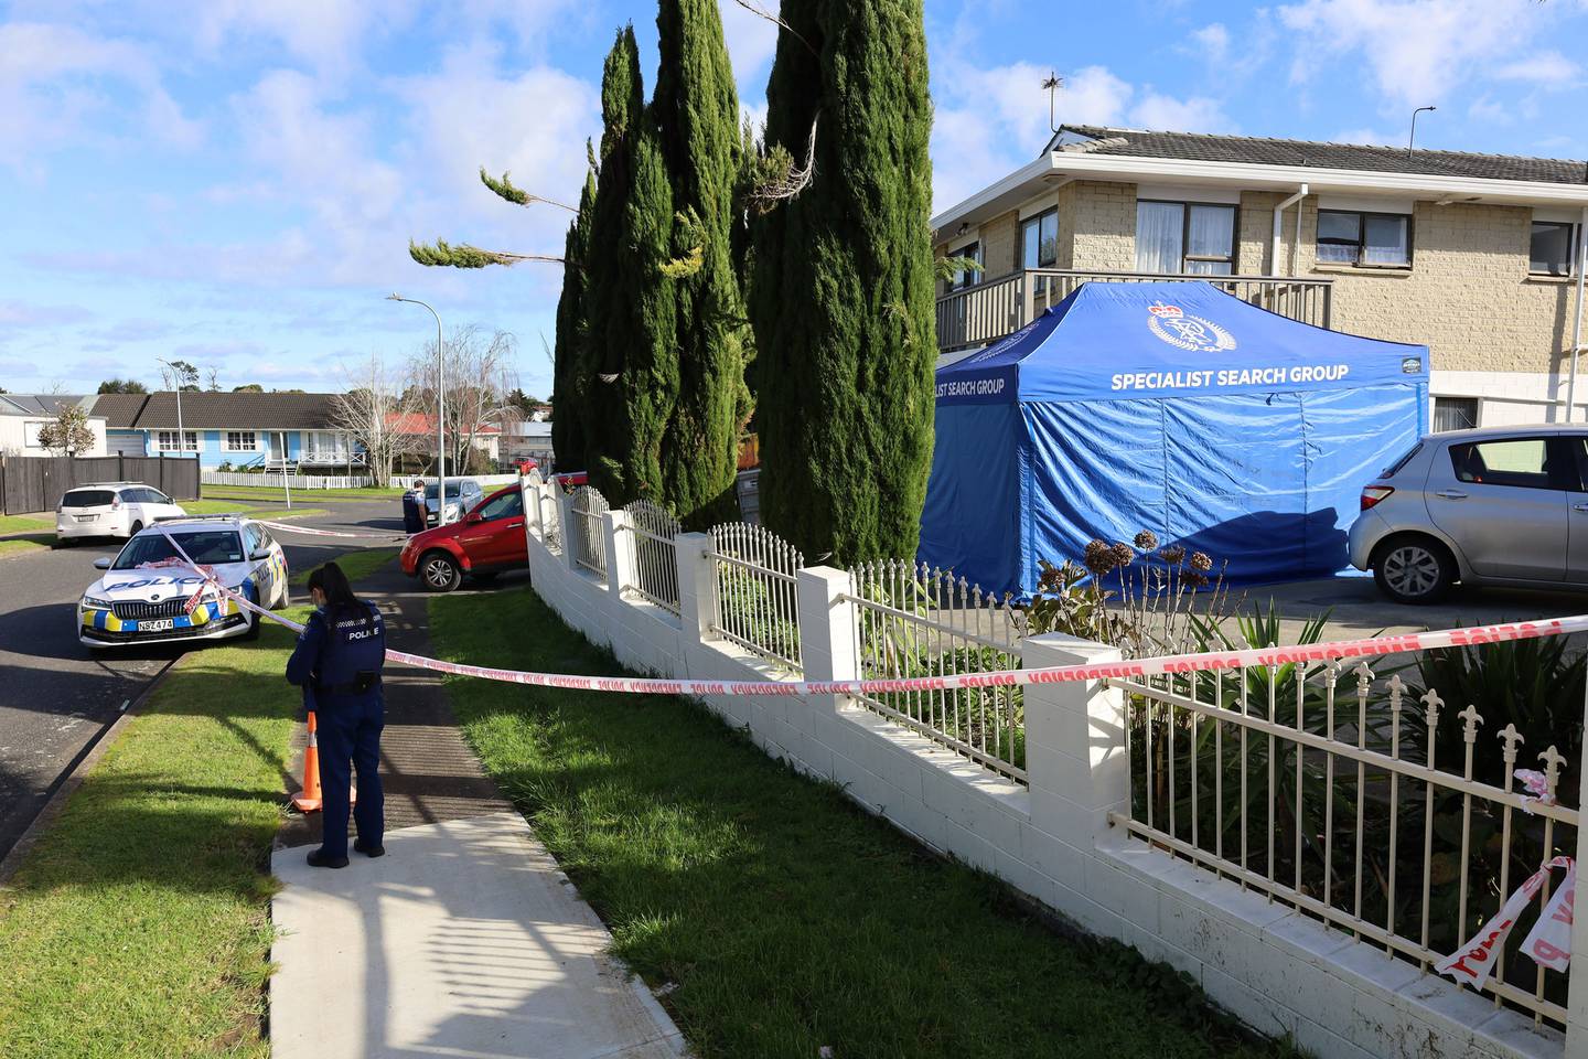
[[[319,726],[319,786],[324,799],[324,837],[308,854],[316,868],[348,867],[348,802],[353,768],[359,773],[353,848],[380,857],[386,829],[381,797],[381,665],[386,664],[386,622],[372,603],[357,599],[348,575],[327,562],[308,578],[316,611],[287,659],[287,681],[313,691]]]

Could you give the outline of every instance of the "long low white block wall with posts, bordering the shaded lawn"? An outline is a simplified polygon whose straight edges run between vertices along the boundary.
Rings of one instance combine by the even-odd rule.
[[[621,521],[608,519],[610,568],[621,568],[622,548],[611,549]],[[711,638],[711,538],[683,533],[676,553],[681,618],[624,600],[613,584],[535,538],[530,568],[549,607],[638,668],[697,680],[796,680]],[[799,573],[800,643],[811,680],[858,675],[848,591],[843,572]],[[1032,668],[1112,657],[1110,648],[1070,637],[1024,643]],[[746,727],[765,753],[842,784],[924,845],[1189,973],[1250,1026],[1291,1034],[1323,1059],[1588,1056],[1588,1037],[1575,1029],[1588,1026],[1588,973],[1574,980],[1571,1040],[1536,1032],[1531,1019],[1496,1011],[1491,1000],[1131,840],[1110,819],[1129,811],[1120,692],[1097,683],[1031,684],[1024,702],[1029,788],[846,699],[710,697],[707,705],[724,722]],[[1575,932],[1575,949],[1588,951],[1588,927]]]

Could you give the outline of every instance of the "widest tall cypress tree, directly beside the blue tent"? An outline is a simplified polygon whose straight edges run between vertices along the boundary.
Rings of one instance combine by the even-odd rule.
[[[767,524],[807,556],[912,557],[932,457],[921,0],[783,0],[767,146],[815,176],[754,225]]]

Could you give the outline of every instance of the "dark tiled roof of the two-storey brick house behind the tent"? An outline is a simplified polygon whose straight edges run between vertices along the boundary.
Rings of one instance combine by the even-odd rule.
[[[1048,151],[1548,184],[1588,183],[1588,162],[1567,159],[1529,159],[1510,154],[1467,154],[1464,151],[1407,151],[1405,148],[1374,148],[1355,143],[1220,137],[1201,132],[1150,132],[1104,125],[1061,125],[1059,133],[1048,143]]]

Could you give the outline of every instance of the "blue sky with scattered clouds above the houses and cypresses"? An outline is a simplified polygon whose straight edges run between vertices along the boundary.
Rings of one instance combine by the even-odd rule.
[[[724,3],[764,114],[773,29]],[[927,0],[937,206],[1035,157],[1059,119],[1588,157],[1588,0]],[[410,237],[559,252],[567,214],[486,192],[483,164],[573,200],[600,60],[640,0],[0,2],[0,386],[335,389],[430,318],[513,332],[549,389],[561,273],[453,271]],[[654,59],[648,62],[648,67]],[[653,71],[648,68],[648,78]]]

